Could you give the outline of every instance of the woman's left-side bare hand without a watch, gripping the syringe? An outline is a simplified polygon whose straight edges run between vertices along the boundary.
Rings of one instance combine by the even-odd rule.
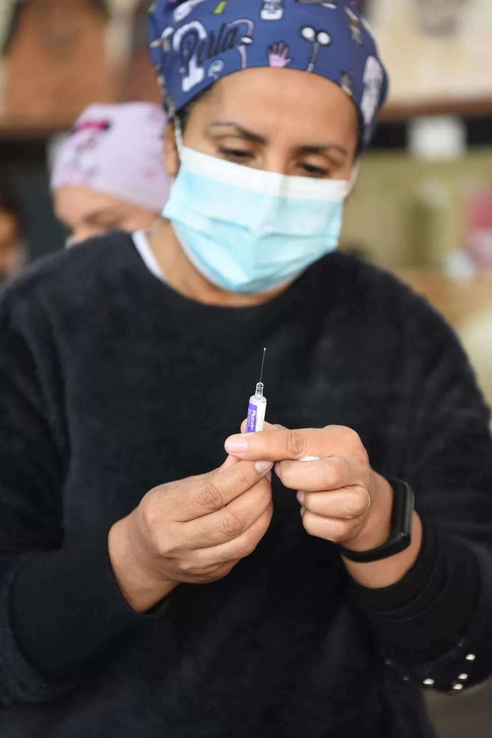
[[[119,588],[138,612],[180,582],[222,579],[270,525],[272,463],[229,458],[215,472],[156,487],[108,536]]]

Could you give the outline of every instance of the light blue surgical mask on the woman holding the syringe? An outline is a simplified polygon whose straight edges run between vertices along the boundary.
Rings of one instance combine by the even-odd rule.
[[[243,167],[181,148],[164,208],[191,263],[227,292],[268,292],[336,249],[349,183]]]

